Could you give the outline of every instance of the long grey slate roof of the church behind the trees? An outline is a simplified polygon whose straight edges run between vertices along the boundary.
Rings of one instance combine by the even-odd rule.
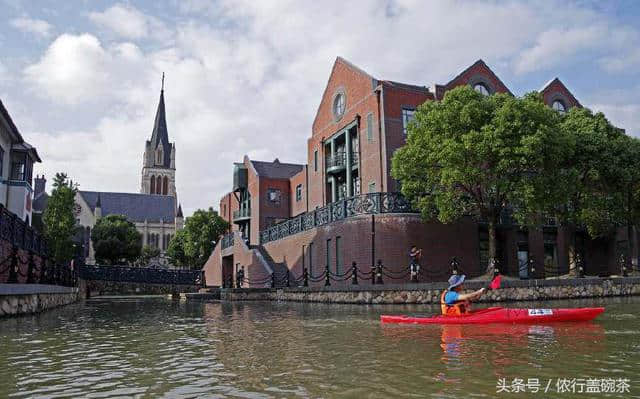
[[[91,211],[95,211],[100,201],[102,216],[124,215],[132,222],[173,223],[176,217],[176,199],[170,195],[108,193],[98,191],[78,191]]]

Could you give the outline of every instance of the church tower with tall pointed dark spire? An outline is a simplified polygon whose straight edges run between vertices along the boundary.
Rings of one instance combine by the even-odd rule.
[[[176,197],[176,147],[174,143],[169,142],[167,132],[164,111],[164,73],[151,140],[145,143],[140,192]]]

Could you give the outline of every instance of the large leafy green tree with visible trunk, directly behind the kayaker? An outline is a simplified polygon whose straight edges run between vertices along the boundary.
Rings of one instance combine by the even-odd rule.
[[[562,203],[562,187],[553,182],[569,152],[559,122],[537,93],[483,96],[459,87],[418,108],[392,175],[426,219],[486,221],[491,272],[504,211],[533,225]]]

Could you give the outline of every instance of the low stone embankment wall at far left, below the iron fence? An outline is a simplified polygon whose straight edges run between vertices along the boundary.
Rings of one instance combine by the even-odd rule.
[[[0,284],[0,317],[39,313],[80,299],[77,287]]]

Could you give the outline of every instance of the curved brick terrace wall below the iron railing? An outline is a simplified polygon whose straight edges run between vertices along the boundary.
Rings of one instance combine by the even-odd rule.
[[[336,237],[341,237],[341,271],[346,271],[354,261],[361,270],[369,271],[372,256],[371,224],[371,216],[359,216],[273,241],[265,244],[264,247],[274,261],[285,263],[295,276],[300,276],[303,267],[303,246],[305,264],[308,267],[309,243],[313,243],[313,274],[320,275],[326,266],[328,239],[331,239],[329,268],[335,272],[335,240]],[[465,272],[471,274],[479,272],[478,229],[475,223],[463,221],[443,225],[424,223],[417,215],[375,216],[376,262],[380,259],[386,267],[394,271],[406,268],[409,263],[408,251],[411,244],[423,248],[424,256],[421,263],[431,272],[440,271],[439,280],[448,277],[452,256],[458,257]],[[322,284],[322,282],[315,283],[318,286]]]

